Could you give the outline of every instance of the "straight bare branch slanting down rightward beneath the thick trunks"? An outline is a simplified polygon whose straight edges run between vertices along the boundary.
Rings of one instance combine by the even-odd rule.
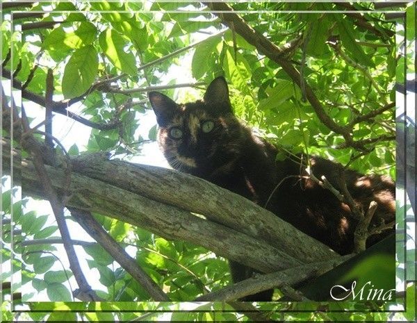
[[[72,216],[91,235],[108,254],[120,263],[129,274],[144,288],[155,301],[170,301],[165,292],[138,266],[136,260],[131,258],[126,251],[109,235],[103,227],[92,217],[90,212],[68,208]]]

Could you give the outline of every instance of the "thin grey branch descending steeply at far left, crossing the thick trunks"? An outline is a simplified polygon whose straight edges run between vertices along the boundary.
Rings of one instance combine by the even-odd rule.
[[[24,111],[23,106],[22,106],[22,126],[25,132],[28,132],[31,130],[28,125],[28,120],[27,120],[26,113]],[[67,224],[65,223],[63,203],[62,201],[58,199],[58,195],[56,194],[52,186],[51,180],[49,179],[49,176],[47,175],[47,171],[42,161],[42,154],[38,150],[38,147],[33,146],[33,145],[28,146],[27,144],[25,144],[25,140],[22,141],[22,145],[25,147],[25,149],[28,149],[28,151],[31,151],[32,153],[33,165],[35,166],[36,172],[38,173],[38,176],[42,183],[42,187],[44,188],[44,191],[47,194],[49,203],[51,204],[51,208],[54,211],[54,215],[56,217],[56,223],[58,224],[60,235],[63,238],[65,251],[67,252],[68,260],[70,261],[70,268],[80,288],[81,294],[79,294],[77,297],[85,301],[101,300],[100,297],[97,297],[95,292],[91,289],[90,285],[88,285],[88,282],[85,279],[85,276],[81,270],[81,266],[79,265],[78,259],[76,257],[74,246],[71,244],[70,232],[68,231]]]

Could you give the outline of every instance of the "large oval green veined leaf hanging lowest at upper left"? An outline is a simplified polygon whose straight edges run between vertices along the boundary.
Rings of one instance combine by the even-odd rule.
[[[92,45],[77,49],[65,65],[63,76],[63,94],[72,99],[84,94],[97,76],[99,59]]]

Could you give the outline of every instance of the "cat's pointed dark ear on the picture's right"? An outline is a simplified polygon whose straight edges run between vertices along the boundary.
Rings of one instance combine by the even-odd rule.
[[[229,99],[229,87],[223,76],[219,76],[211,81],[204,94],[204,102],[214,106],[219,112],[230,113],[231,104]]]

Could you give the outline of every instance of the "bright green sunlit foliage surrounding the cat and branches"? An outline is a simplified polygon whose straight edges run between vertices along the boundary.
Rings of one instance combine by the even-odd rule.
[[[359,172],[388,174],[395,179],[395,110],[384,107],[395,100],[395,76],[398,80],[404,78],[404,57],[398,55],[395,47],[392,22],[381,22],[379,13],[367,13],[366,22],[373,28],[364,28],[352,15],[320,13],[341,9],[332,3],[234,4],[236,10],[311,10],[311,13],[240,14],[257,33],[266,35],[284,50],[282,57],[300,72],[302,86],[298,86],[276,61],[236,33],[233,25],[227,28],[221,16],[210,13],[200,3],[187,6],[172,2],[51,3],[51,8],[45,9],[48,15],[16,22],[22,24],[21,39],[19,32],[7,32],[10,23],[4,20],[2,57],[6,58],[9,48],[14,56],[3,60],[3,68],[13,71],[26,93],[31,93],[22,92],[26,107],[38,108],[28,101],[39,104],[33,95],[44,97],[49,69],[54,77],[54,101],[81,106],[81,122],[91,126],[92,131],[85,147],[77,144],[76,139],[67,147],[71,156],[81,151],[107,151],[126,159],[140,155],[147,140],[156,138],[153,125],[147,136],[140,135],[143,124],[149,122],[147,90],[168,85],[161,91],[174,97],[197,99],[201,97],[197,83],[208,84],[215,76],[224,75],[236,115],[281,151],[318,154]],[[195,11],[168,11],[186,7]],[[47,3],[40,2],[29,12],[44,8]],[[159,13],[143,11],[149,9]],[[36,25],[39,22],[45,24]],[[181,70],[183,76],[174,74],[174,70]],[[173,86],[181,83],[195,86],[193,90],[192,86],[179,89]],[[341,133],[322,123],[311,101],[306,99],[306,85],[316,94],[330,119],[341,126],[352,126],[352,140],[363,142],[361,149],[348,144]],[[64,108],[56,108],[56,113],[65,115],[65,104]],[[376,110],[380,113],[373,115]],[[116,126],[104,127],[111,124]],[[279,154],[277,158],[282,156]],[[13,204],[15,225],[22,227],[22,239],[59,238],[58,226],[51,220],[53,215],[26,208],[20,215],[25,202],[23,199]],[[3,192],[5,214],[10,213],[8,205],[10,192]],[[102,215],[95,217],[173,301],[195,299],[229,283],[226,261],[216,258],[211,251],[188,242],[165,240]],[[10,236],[3,235],[3,239],[10,240]],[[85,268],[88,266],[97,273],[97,295],[113,302],[108,310],[121,319],[135,317],[121,313],[122,307],[117,302],[150,301],[147,292],[104,249],[94,243],[81,246],[77,250],[85,255]],[[24,251],[23,285],[38,294],[42,292],[50,301],[74,300],[74,277],[56,245],[28,244],[17,251]],[[2,252],[3,260],[10,258],[10,251]],[[2,280],[7,278],[2,276]],[[169,309],[164,306],[141,304],[135,310]],[[172,320],[236,319],[232,313],[214,314],[213,310],[219,310],[216,306],[201,308],[206,313],[174,313]],[[82,308],[97,309],[89,308],[88,304]],[[268,306],[265,309],[271,310]],[[286,306],[278,305],[275,309],[284,310]],[[302,310],[302,305],[289,309]],[[85,318],[91,321],[113,318],[106,314],[91,312]],[[290,314],[288,318],[294,320],[295,316]],[[329,314],[334,319],[336,316]],[[311,313],[302,317],[300,313],[301,320],[329,317]],[[353,314],[351,318],[369,317]]]

